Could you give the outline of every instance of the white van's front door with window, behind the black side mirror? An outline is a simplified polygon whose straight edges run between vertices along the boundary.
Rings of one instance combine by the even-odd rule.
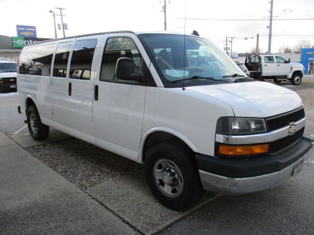
[[[142,51],[144,48],[132,33],[104,35],[102,43],[102,61],[97,66],[100,72],[94,82],[95,91],[98,89],[93,105],[96,144],[136,161],[142,137],[146,82],[119,80],[115,68],[119,58],[129,57],[134,61],[135,72],[147,69],[138,46]]]

